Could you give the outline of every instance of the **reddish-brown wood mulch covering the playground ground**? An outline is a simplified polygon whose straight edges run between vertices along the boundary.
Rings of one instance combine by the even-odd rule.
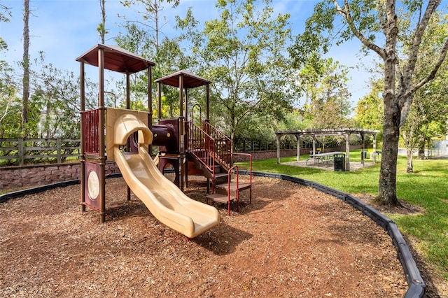
[[[205,202],[205,187],[186,193]],[[403,297],[390,237],[335,197],[254,178],[253,203],[215,204],[221,224],[195,239],[156,220],[123,179],[107,218],[80,211],[80,186],[0,204],[0,297]]]

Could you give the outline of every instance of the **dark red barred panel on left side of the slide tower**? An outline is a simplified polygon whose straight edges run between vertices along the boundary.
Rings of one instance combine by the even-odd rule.
[[[84,153],[99,155],[99,109],[83,112]]]

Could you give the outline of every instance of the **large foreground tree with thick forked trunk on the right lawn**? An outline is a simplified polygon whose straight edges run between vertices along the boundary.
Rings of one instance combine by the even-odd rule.
[[[443,46],[428,67],[428,72],[419,80],[413,80],[416,63],[421,59],[419,49],[423,34],[440,1],[426,1],[426,8],[421,0],[400,1],[400,10],[406,10],[412,15],[413,30],[407,41],[409,51],[406,57],[399,57],[402,44],[399,43],[398,36],[402,27],[397,15],[396,0],[321,1],[307,20],[304,34],[297,36],[295,46],[291,48],[297,61],[301,62],[311,50],[328,50],[333,38],[337,39],[337,44],[357,38],[366,49],[381,57],[384,64],[384,127],[377,196],[380,204],[399,205],[396,178],[400,127],[407,118],[415,92],[435,77],[447,55],[448,38],[445,35]],[[340,21],[342,27],[335,26],[336,21]],[[323,36],[325,32],[337,32],[337,36]]]

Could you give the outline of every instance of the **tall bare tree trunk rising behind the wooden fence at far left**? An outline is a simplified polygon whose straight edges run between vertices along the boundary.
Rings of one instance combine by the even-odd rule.
[[[29,98],[29,0],[23,0],[23,78],[22,78],[22,134],[27,135]]]

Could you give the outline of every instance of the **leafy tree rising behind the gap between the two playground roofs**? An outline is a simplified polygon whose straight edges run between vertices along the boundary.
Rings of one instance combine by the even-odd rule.
[[[134,20],[132,22],[125,22],[123,28],[125,33],[120,33],[116,37],[116,43],[130,52],[134,52],[141,57],[150,59],[155,62],[152,69],[153,79],[167,76],[170,73],[186,69],[193,64],[193,59],[184,55],[184,50],[181,48],[181,41],[185,36],[175,38],[162,38],[160,28],[160,20],[158,13],[163,10],[163,1],[145,1],[134,0],[122,2],[124,6],[132,6],[139,8],[139,15],[141,20]],[[167,1],[177,6],[179,1]],[[124,17],[125,18],[125,17]],[[193,20],[189,20],[194,22]],[[186,23],[188,23],[186,21]],[[185,24],[187,26],[187,24]],[[162,118],[172,118],[179,116],[179,92],[174,87],[161,85],[162,99]],[[148,108],[148,76],[146,74],[137,73],[132,76],[131,81],[131,99],[134,103],[133,108],[147,111]],[[157,85],[153,84],[153,99],[157,99]],[[124,100],[125,97],[123,97]],[[121,103],[125,106],[125,102]],[[153,100],[153,118],[158,118],[157,100]]]

